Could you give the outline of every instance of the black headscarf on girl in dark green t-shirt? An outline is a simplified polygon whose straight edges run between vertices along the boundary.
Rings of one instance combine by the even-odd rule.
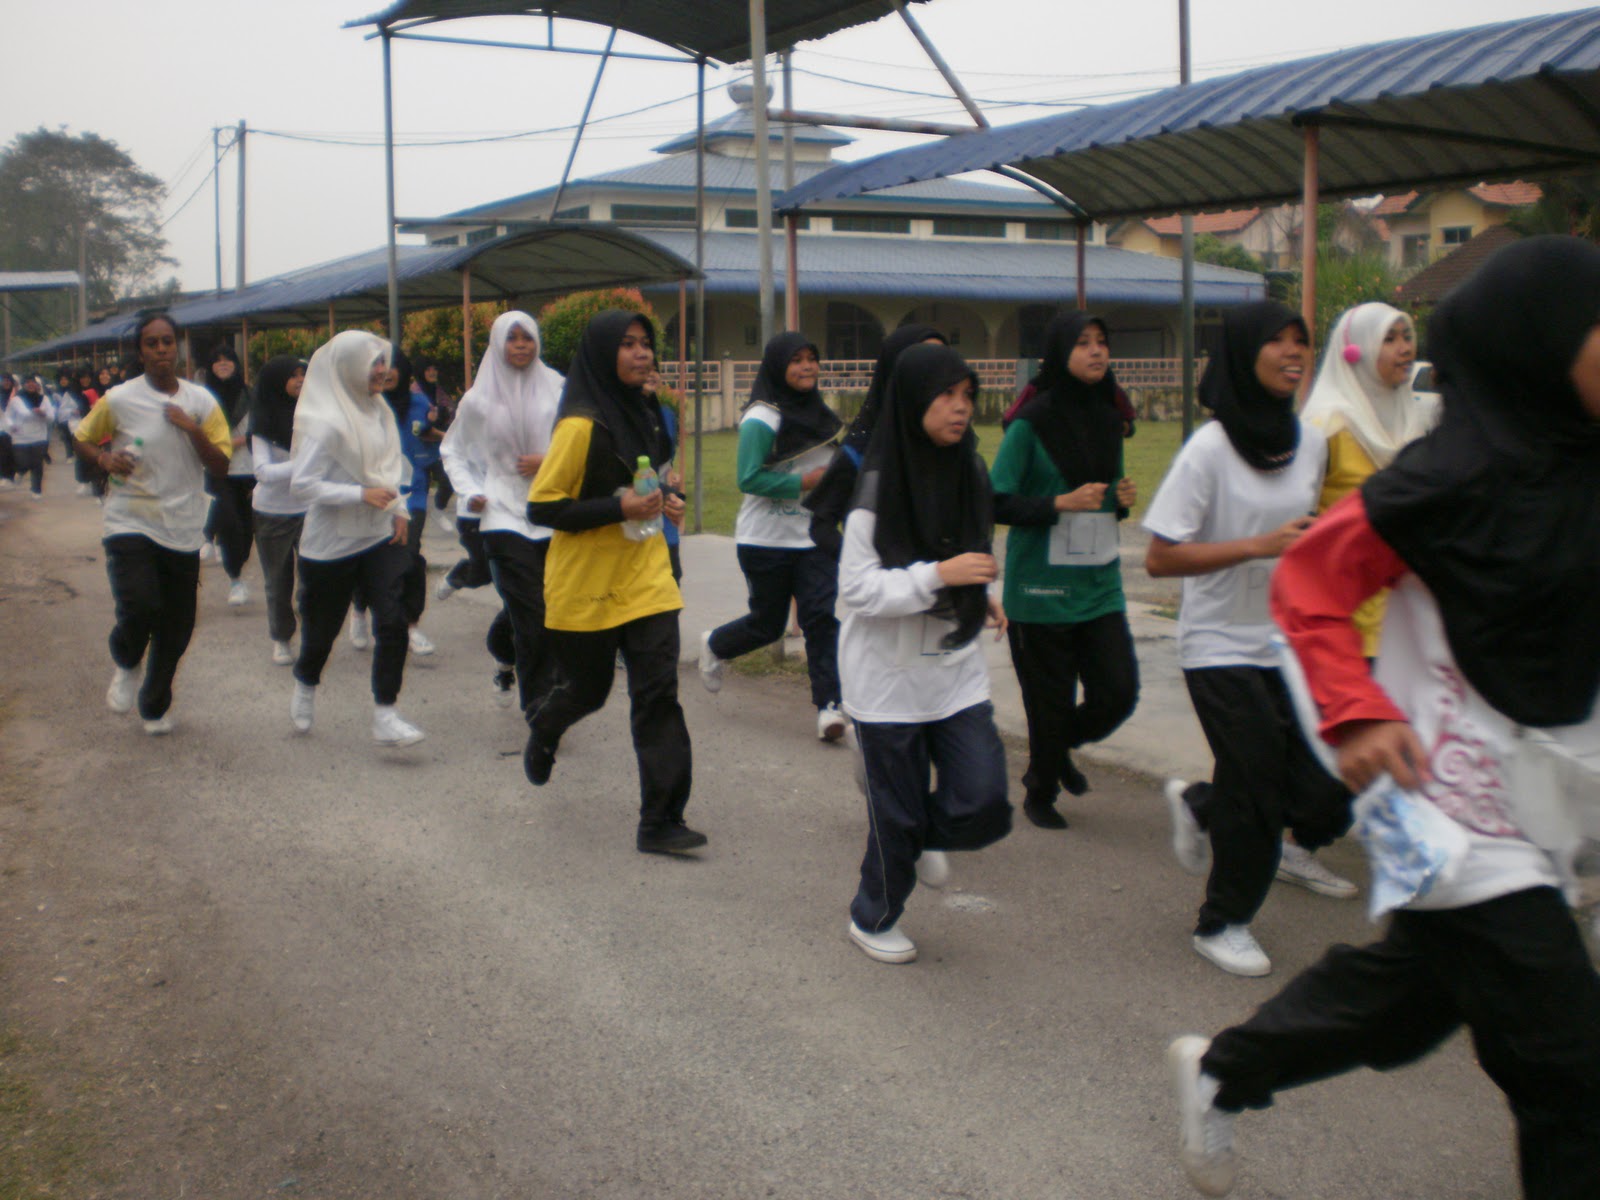
[[[1085,483],[1115,485],[1122,467],[1122,413],[1117,410],[1117,378],[1086,384],[1067,370],[1078,338],[1090,325],[1106,334],[1106,322],[1086,312],[1064,312],[1045,326],[1045,358],[1038,366],[1038,392],[1018,410],[1067,482],[1067,491]],[[1109,341],[1107,334],[1107,341]]]

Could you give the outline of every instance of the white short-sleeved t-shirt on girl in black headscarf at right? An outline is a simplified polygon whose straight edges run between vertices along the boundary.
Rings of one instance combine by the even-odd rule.
[[[1294,461],[1283,470],[1256,470],[1211,421],[1178,451],[1144,514],[1144,528],[1170,542],[1229,542],[1254,538],[1317,509],[1328,443],[1301,424]],[[1275,558],[1254,558],[1184,579],[1178,616],[1178,664],[1197,667],[1275,667],[1275,632],[1267,584]]]

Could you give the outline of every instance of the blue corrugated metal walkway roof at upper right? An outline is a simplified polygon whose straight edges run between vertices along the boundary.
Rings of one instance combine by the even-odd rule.
[[[1323,195],[1542,176],[1600,162],[1600,10],[1430,34],[842,163],[779,197],[826,208],[1016,166],[1093,218],[1301,195],[1320,126]]]

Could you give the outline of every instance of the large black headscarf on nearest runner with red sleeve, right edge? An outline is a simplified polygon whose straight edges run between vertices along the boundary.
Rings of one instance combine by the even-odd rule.
[[[1362,486],[1467,680],[1522,725],[1582,722],[1600,690],[1600,422],[1568,374],[1597,323],[1600,248],[1496,251],[1429,318],[1438,429]]]

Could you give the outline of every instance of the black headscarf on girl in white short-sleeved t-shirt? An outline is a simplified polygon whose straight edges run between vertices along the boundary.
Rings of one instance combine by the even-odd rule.
[[[1299,446],[1294,397],[1278,398],[1256,378],[1261,347],[1290,325],[1306,333],[1299,314],[1277,301],[1222,310],[1222,352],[1200,379],[1200,403],[1210,408],[1234,450],[1256,470],[1283,470]]]

